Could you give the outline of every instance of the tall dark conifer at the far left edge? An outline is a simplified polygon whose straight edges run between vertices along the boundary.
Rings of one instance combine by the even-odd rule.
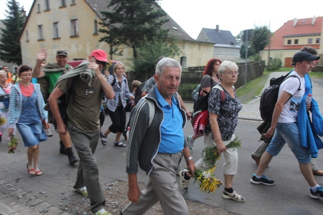
[[[21,49],[18,36],[25,22],[23,7],[16,0],[8,0],[6,19],[3,20],[5,28],[0,28],[0,59],[6,63],[21,65]]]

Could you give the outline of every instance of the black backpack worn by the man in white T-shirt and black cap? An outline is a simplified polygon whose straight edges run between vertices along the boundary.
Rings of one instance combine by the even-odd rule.
[[[288,73],[289,74],[289,73]],[[287,75],[288,75],[287,74]],[[285,75],[286,76],[286,75]],[[289,76],[281,76],[279,78],[271,78],[270,79],[270,86],[268,86],[263,93],[261,94],[260,97],[260,106],[259,106],[259,111],[260,111],[260,116],[261,119],[264,120],[265,122],[271,122],[272,119],[272,114],[275,109],[275,105],[278,99],[278,92],[279,92],[279,87],[280,85],[290,77],[297,77],[296,75],[292,74]],[[297,77],[298,78],[298,77]],[[273,80],[273,81],[272,81]],[[300,81],[300,79],[298,78]],[[274,85],[271,85],[272,83],[276,83]],[[301,89],[301,81],[300,81],[300,86],[297,89],[299,91]],[[293,95],[289,97],[289,99],[292,98]],[[288,99],[288,100],[289,100]],[[288,100],[286,102],[288,102]],[[286,104],[285,102],[285,104]]]

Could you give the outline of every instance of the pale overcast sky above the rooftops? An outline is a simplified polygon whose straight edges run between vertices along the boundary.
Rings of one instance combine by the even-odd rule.
[[[33,0],[17,0],[27,14]],[[78,1],[78,0],[77,0]],[[76,1],[76,2],[77,2]],[[0,0],[0,19],[4,19],[7,0]],[[323,16],[323,0],[161,0],[161,7],[193,39],[202,28],[229,30],[237,36],[244,29],[270,23],[276,31],[284,22],[294,18]]]

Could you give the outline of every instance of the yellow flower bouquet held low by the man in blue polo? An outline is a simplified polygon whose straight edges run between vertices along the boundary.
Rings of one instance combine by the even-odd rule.
[[[200,185],[200,191],[204,193],[214,193],[217,188],[220,187],[220,185],[223,184],[223,182],[220,179],[216,179],[214,177],[214,170],[217,167],[214,167],[213,169],[209,169],[206,171],[202,171],[199,169],[195,170],[194,173],[194,183],[197,181]]]

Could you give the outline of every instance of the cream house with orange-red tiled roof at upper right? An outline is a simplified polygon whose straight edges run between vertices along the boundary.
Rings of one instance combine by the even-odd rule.
[[[280,58],[283,67],[292,67],[292,58],[303,46],[315,48],[323,53],[323,17],[288,20],[271,37],[269,55],[271,59]],[[261,59],[268,62],[267,46],[261,53]]]

